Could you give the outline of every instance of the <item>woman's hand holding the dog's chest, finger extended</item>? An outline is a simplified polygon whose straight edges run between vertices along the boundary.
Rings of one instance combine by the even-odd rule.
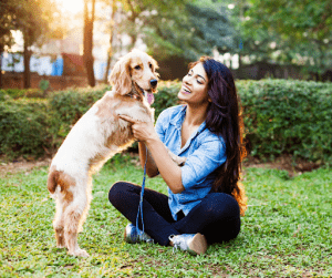
[[[146,142],[157,136],[153,122],[139,122],[126,115],[118,115],[118,117],[133,124],[132,131],[134,137],[138,141]]]

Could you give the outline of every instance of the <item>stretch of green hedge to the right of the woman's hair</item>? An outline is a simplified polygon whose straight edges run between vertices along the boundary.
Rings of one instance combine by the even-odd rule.
[[[237,82],[251,155],[332,157],[332,84],[262,80]]]

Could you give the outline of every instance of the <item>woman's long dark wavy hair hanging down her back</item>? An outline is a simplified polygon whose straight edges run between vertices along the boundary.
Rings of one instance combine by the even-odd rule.
[[[208,95],[211,102],[207,111],[207,128],[222,136],[226,144],[227,159],[217,169],[212,191],[232,195],[240,206],[241,215],[245,215],[247,197],[240,183],[241,161],[246,155],[242,143],[243,121],[234,78],[225,64],[212,58],[201,56],[189,64],[189,68],[197,63],[203,63],[208,76]]]

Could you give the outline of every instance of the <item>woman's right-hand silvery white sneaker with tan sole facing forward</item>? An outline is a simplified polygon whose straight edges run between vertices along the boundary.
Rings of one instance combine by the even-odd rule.
[[[207,250],[207,240],[204,235],[184,234],[177,236],[170,236],[175,249],[180,248],[181,250],[189,251],[191,255],[201,255]]]

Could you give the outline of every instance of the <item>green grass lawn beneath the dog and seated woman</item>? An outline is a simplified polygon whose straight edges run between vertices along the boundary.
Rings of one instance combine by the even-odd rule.
[[[240,235],[204,256],[123,240],[127,220],[107,199],[116,181],[142,183],[129,156],[117,155],[94,176],[93,202],[75,258],[55,247],[54,202],[48,168],[0,181],[0,277],[331,277],[332,172],[294,178],[287,172],[246,168],[249,208]],[[162,178],[147,186],[166,193]]]

